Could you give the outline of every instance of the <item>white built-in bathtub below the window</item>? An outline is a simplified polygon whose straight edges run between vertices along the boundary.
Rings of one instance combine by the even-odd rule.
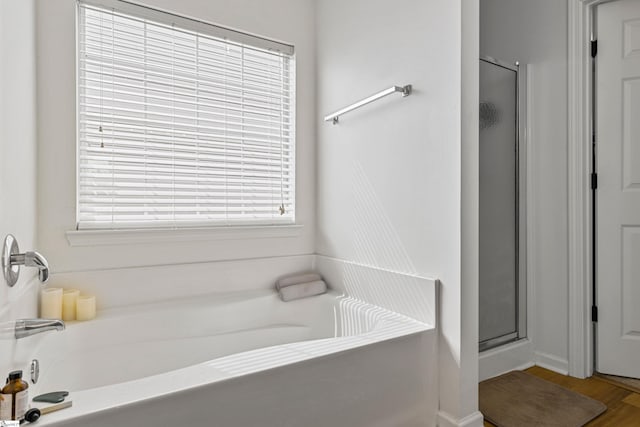
[[[111,309],[19,345],[40,362],[31,396],[73,401],[43,427],[429,426],[437,410],[433,325],[337,293]]]

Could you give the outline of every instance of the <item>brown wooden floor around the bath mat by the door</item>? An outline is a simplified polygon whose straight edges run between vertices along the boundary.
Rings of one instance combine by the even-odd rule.
[[[607,411],[587,424],[588,427],[640,427],[640,394],[638,393],[618,387],[598,377],[580,380],[557,374],[539,366],[529,368],[526,372],[607,405]],[[487,421],[484,422],[484,425],[485,427],[493,427],[493,424]]]

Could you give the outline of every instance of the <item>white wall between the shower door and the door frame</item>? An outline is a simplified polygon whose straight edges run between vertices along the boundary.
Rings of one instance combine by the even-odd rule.
[[[535,361],[559,371],[568,357],[567,3],[480,0],[480,53],[530,64],[528,207],[535,295]]]

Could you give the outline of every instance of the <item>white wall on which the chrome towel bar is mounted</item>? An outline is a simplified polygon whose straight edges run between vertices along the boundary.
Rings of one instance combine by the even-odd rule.
[[[320,125],[317,250],[441,280],[443,425],[477,410],[477,14],[467,0],[317,3],[319,115],[414,88]]]

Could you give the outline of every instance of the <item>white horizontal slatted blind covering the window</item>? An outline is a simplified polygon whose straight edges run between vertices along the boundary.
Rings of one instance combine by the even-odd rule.
[[[78,228],[293,223],[292,48],[124,5],[78,6]]]

